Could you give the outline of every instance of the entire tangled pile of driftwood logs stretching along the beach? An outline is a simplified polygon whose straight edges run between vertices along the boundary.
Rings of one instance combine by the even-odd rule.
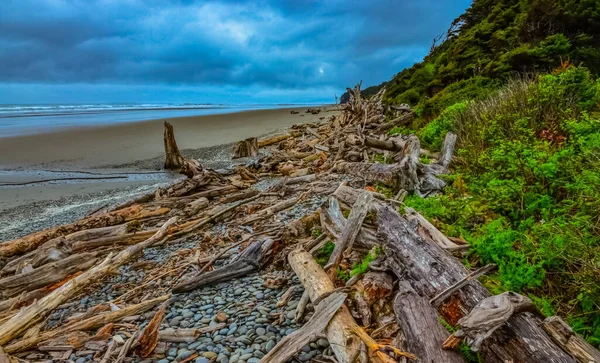
[[[333,356],[315,361],[462,362],[454,349],[461,340],[486,362],[599,361],[599,353],[560,318],[543,321],[529,299],[490,296],[477,277],[494,266],[467,271],[452,254],[468,245],[403,206],[409,192],[426,197],[443,189],[437,176],[450,172],[456,137],[448,134],[439,152],[422,150],[414,136],[389,137],[389,129],[410,121],[410,109],[386,109],[383,91],[370,100],[360,97],[358,87],[350,94],[343,112],[323,123],[236,144],[235,157],[264,153],[232,170],[207,170],[184,159],[165,124],[165,167],[187,178],[0,244],[0,362],[61,360],[82,351],[100,362],[164,358],[168,344],[217,334],[235,319],[219,312],[215,324],[203,328],[165,328],[177,295],[256,271],[284,271],[265,281],[282,290],[277,307],[304,291],[294,321],[306,323],[261,353],[262,362],[295,359],[322,336]],[[389,163],[371,161],[381,153]],[[422,163],[421,154],[433,161]],[[375,192],[375,183],[396,197]],[[335,247],[321,267],[313,256],[328,240]],[[181,241],[196,244],[161,263],[144,258],[150,248]],[[340,279],[340,272],[374,250],[382,253],[366,273]],[[53,311],[101,289],[122,266],[144,268],[144,280],[114,286],[119,296],[48,324]],[[301,286],[292,283],[290,270]],[[133,323],[141,318],[132,316],[152,309],[148,321]],[[272,324],[285,320],[283,313],[270,318]],[[442,319],[460,330],[450,335]]]

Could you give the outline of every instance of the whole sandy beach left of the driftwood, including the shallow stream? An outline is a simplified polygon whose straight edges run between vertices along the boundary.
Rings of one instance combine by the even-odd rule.
[[[160,170],[164,121],[173,124],[184,155],[222,168],[232,164],[233,142],[334,114],[305,110],[166,118],[0,138],[0,241],[68,223],[179,178]]]

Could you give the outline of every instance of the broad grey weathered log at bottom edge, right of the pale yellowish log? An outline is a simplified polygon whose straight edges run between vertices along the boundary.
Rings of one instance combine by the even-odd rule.
[[[457,352],[442,349],[448,331],[440,325],[438,314],[427,298],[420,296],[408,281],[400,282],[394,312],[404,335],[405,349],[419,357],[419,362],[464,362]]]

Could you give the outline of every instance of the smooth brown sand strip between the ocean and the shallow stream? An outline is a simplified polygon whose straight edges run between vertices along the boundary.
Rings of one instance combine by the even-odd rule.
[[[161,156],[164,121],[173,124],[180,149],[198,149],[319,121],[331,114],[305,114],[306,108],[298,108],[300,114],[292,115],[291,110],[179,117],[0,138],[0,169],[85,170]]]

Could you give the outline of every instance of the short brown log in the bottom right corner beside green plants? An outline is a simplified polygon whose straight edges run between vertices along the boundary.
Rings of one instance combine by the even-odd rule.
[[[550,334],[554,342],[569,352],[579,363],[600,362],[600,352],[558,316],[550,316],[544,320],[544,330]]]

